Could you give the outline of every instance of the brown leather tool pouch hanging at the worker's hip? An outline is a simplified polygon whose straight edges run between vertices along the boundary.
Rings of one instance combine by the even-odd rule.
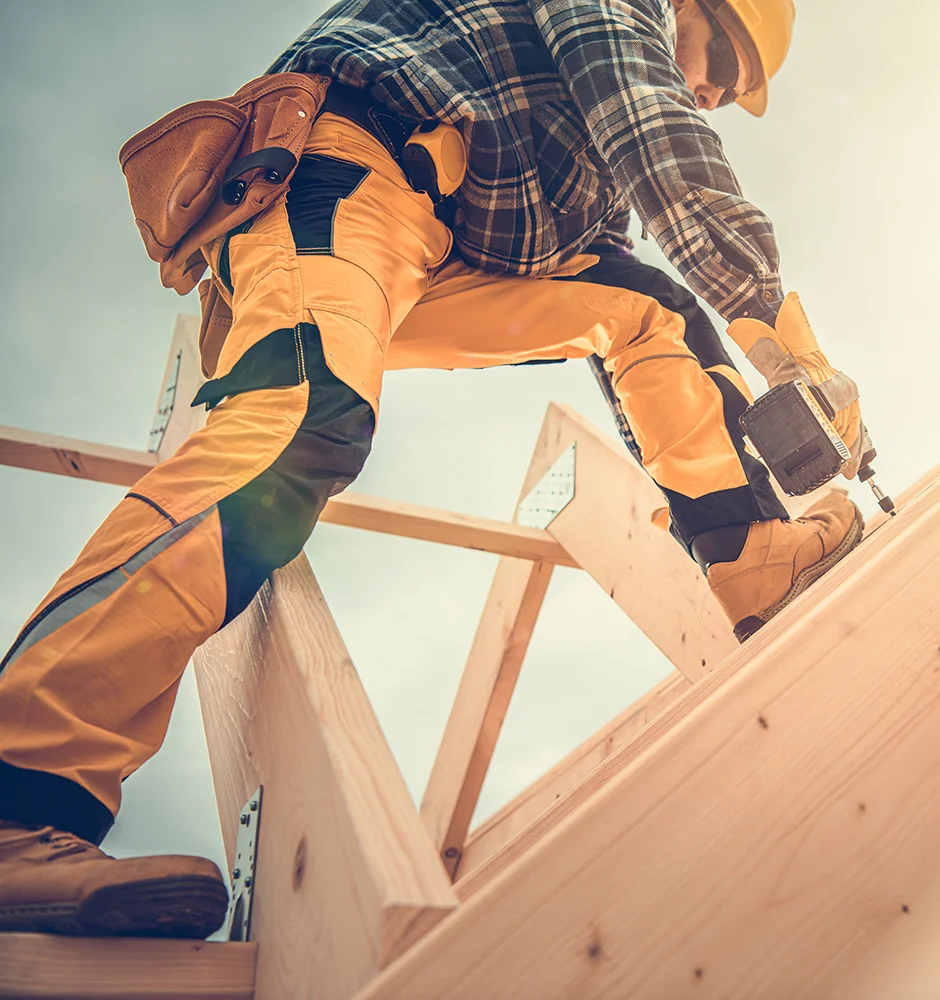
[[[329,82],[262,76],[231,97],[177,108],[124,144],[134,219],[167,288],[195,288],[207,267],[200,248],[285,190]]]

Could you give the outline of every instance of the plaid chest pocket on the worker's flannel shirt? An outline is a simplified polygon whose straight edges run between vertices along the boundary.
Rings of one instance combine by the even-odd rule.
[[[601,170],[574,109],[546,101],[531,113],[535,168],[545,199],[556,212],[583,212],[601,190]]]

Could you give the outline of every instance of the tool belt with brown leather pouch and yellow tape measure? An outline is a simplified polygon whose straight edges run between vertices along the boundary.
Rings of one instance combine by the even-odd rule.
[[[466,171],[452,125],[403,118],[368,91],[306,73],[273,73],[231,97],[171,111],[132,136],[119,159],[134,221],[167,288],[185,295],[206,271],[200,248],[271,205],[286,189],[321,111],[375,136],[445,222]]]

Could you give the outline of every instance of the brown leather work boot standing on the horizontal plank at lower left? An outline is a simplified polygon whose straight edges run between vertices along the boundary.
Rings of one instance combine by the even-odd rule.
[[[73,833],[0,820],[0,931],[204,938],[227,904],[205,858],[118,861]]]

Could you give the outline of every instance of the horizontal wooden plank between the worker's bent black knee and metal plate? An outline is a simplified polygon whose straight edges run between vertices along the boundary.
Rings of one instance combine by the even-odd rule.
[[[564,547],[539,528],[435,510],[400,500],[381,500],[361,493],[334,497],[320,520],[517,559],[577,566]]]

